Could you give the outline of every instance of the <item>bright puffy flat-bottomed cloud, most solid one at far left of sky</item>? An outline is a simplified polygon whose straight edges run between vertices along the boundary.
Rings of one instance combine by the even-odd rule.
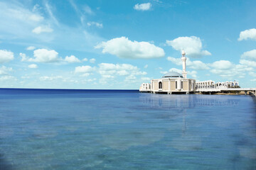
[[[28,62],[60,62],[60,59],[58,58],[58,52],[55,52],[55,50],[34,50],[33,57],[34,58],[29,58]]]

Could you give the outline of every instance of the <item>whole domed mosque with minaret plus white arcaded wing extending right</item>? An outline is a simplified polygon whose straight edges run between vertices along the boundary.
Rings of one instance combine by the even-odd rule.
[[[188,79],[186,72],[186,52],[182,50],[182,74],[168,72],[160,79],[152,79],[150,83],[143,83],[140,92],[151,94],[193,94],[196,91],[221,91],[223,89],[240,88],[238,81],[217,82],[198,81]]]

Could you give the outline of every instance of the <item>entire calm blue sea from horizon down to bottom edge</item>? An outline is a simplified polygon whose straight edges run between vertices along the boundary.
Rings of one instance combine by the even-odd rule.
[[[0,89],[1,169],[256,169],[251,96]]]

